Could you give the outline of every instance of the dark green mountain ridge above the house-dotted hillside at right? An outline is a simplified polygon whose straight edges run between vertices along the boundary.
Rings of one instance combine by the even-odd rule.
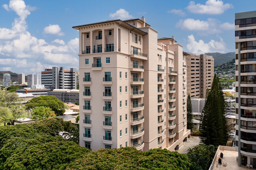
[[[214,58],[214,66],[219,66],[235,58],[235,52],[230,53],[204,53]]]

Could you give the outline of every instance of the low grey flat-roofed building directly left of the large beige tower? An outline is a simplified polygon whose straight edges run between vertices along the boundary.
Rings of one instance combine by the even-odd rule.
[[[53,91],[48,91],[47,95],[55,96],[63,102],[79,102],[79,90],[54,89]]]

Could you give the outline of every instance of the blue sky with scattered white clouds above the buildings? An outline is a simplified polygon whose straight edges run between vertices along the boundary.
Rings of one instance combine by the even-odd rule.
[[[254,10],[255,0],[1,0],[0,71],[78,68],[78,31],[72,26],[142,16],[158,38],[174,36],[184,51],[232,52],[235,13]]]

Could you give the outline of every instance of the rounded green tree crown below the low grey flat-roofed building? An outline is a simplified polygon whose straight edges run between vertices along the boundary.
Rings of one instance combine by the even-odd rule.
[[[63,115],[63,113],[65,112],[64,102],[60,101],[55,96],[46,95],[46,96],[34,97],[33,99],[26,102],[25,106],[26,106],[26,110],[30,110],[39,106],[48,107],[48,108],[51,108],[52,111],[54,111],[54,113],[57,116]]]

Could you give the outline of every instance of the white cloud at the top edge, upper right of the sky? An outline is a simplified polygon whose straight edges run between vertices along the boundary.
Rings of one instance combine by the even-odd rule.
[[[221,0],[208,0],[205,5],[195,4],[194,1],[190,1],[186,9],[191,13],[219,15],[232,7],[232,4],[224,4]]]

